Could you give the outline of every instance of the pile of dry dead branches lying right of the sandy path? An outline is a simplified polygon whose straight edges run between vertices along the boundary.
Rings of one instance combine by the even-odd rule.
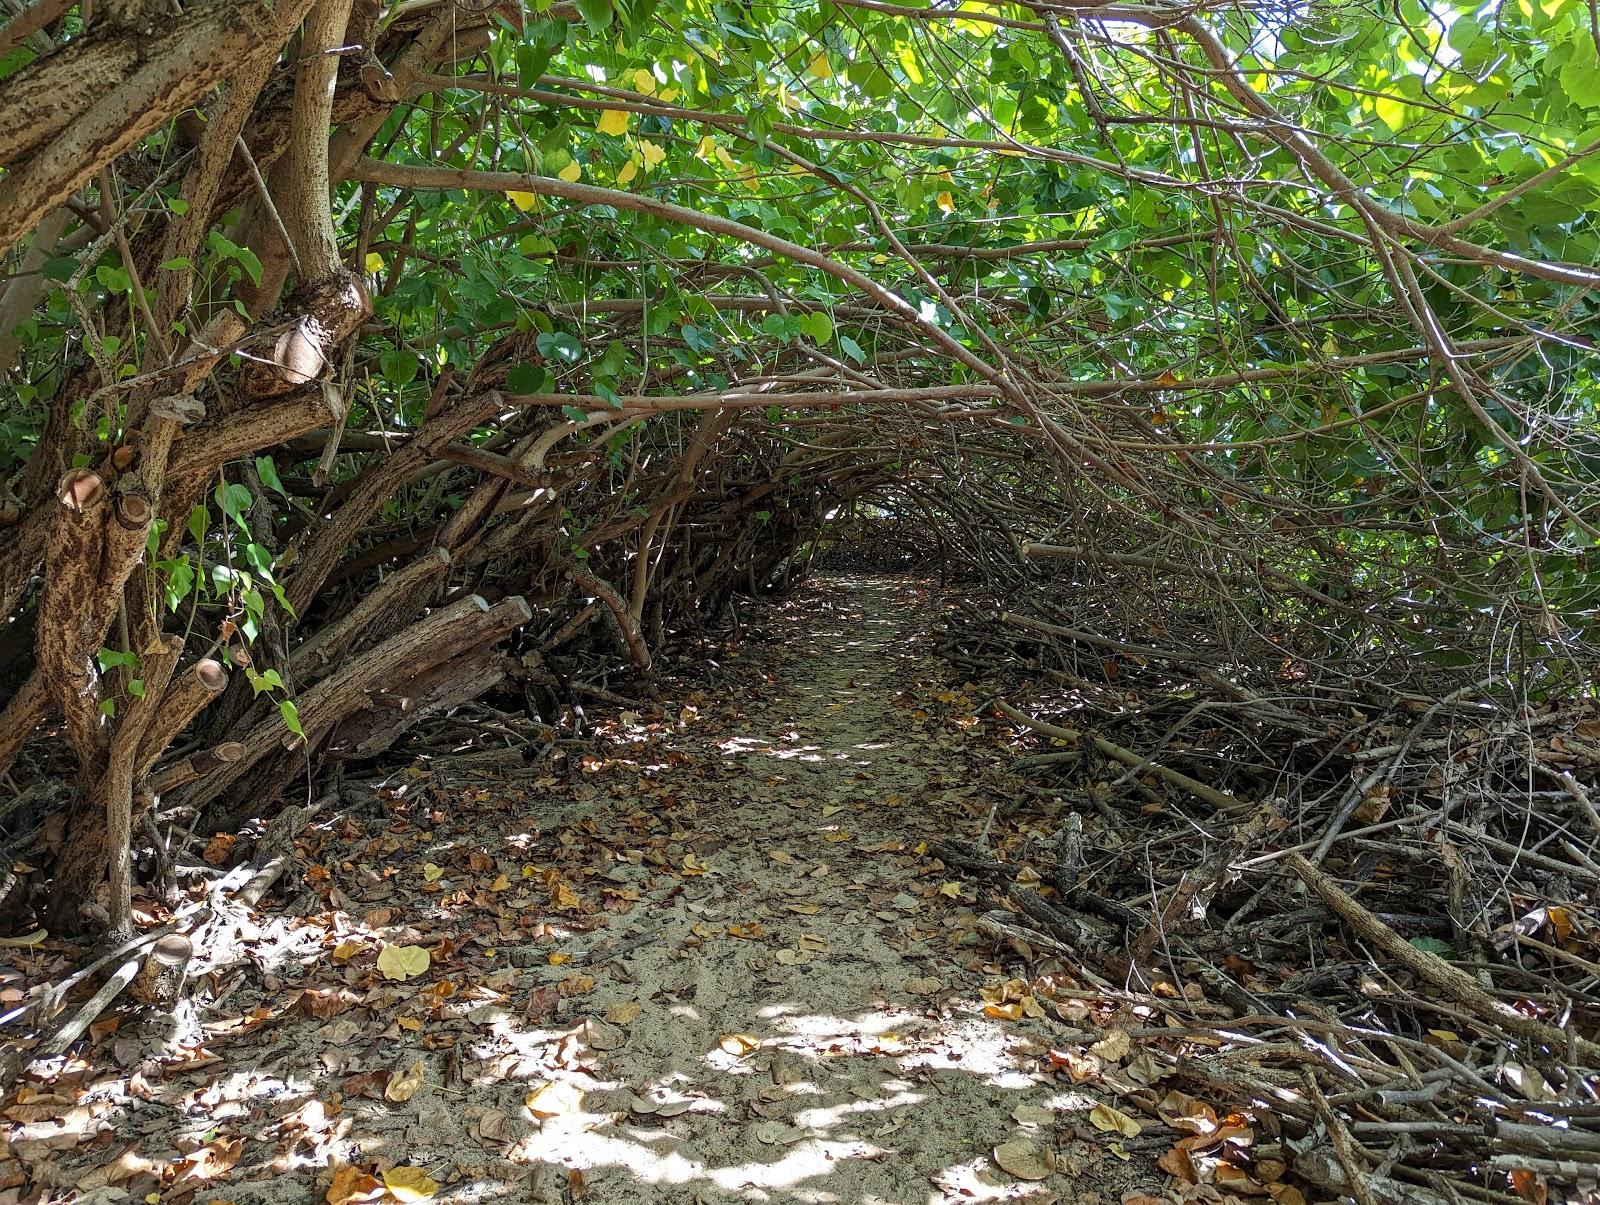
[[[1027,787],[987,845],[933,853],[1043,960],[1040,994],[1128,1010],[1144,1055],[1062,1069],[1187,1135],[1163,1167],[1190,1184],[1592,1191],[1600,712],[1563,695],[1571,650],[1402,658],[1362,592],[1154,533],[1016,552],[944,653],[992,690]],[[1341,640],[1317,611],[1362,623]]]

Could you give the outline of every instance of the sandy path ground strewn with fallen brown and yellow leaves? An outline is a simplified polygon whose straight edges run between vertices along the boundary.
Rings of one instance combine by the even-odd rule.
[[[613,717],[570,776],[397,771],[304,834],[288,906],[208,933],[218,1003],[176,1037],[101,1026],[8,1101],[10,1192],[1157,1192],[1051,1069],[1067,1026],[1008,1019],[1014,955],[918,851],[976,835],[1005,789],[931,623],[910,582],[827,579],[762,611],[725,685]]]

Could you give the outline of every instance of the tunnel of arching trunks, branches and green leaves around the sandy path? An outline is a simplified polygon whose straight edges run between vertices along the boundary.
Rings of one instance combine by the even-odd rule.
[[[1150,991],[1198,933],[1222,967],[1235,864],[1294,866],[1434,1000],[1389,1112],[1296,1031],[1334,1069],[1285,1106],[1338,1144],[1307,1183],[1592,1186],[1592,6],[0,21],[5,931],[144,957],[213,839],[282,871],[341,783],[576,763],[771,600],[907,574],[1032,776],[931,856],[1035,901],[1034,954],[1110,933]],[[1115,840],[1062,831],[1022,891],[1043,847],[992,826],[1066,797]],[[1141,891],[1078,879],[1186,834]],[[1507,1059],[1549,1091],[1470,1069]],[[1483,1117],[1509,1146],[1450,1128]],[[1371,1191],[1378,1122],[1421,1138]]]

